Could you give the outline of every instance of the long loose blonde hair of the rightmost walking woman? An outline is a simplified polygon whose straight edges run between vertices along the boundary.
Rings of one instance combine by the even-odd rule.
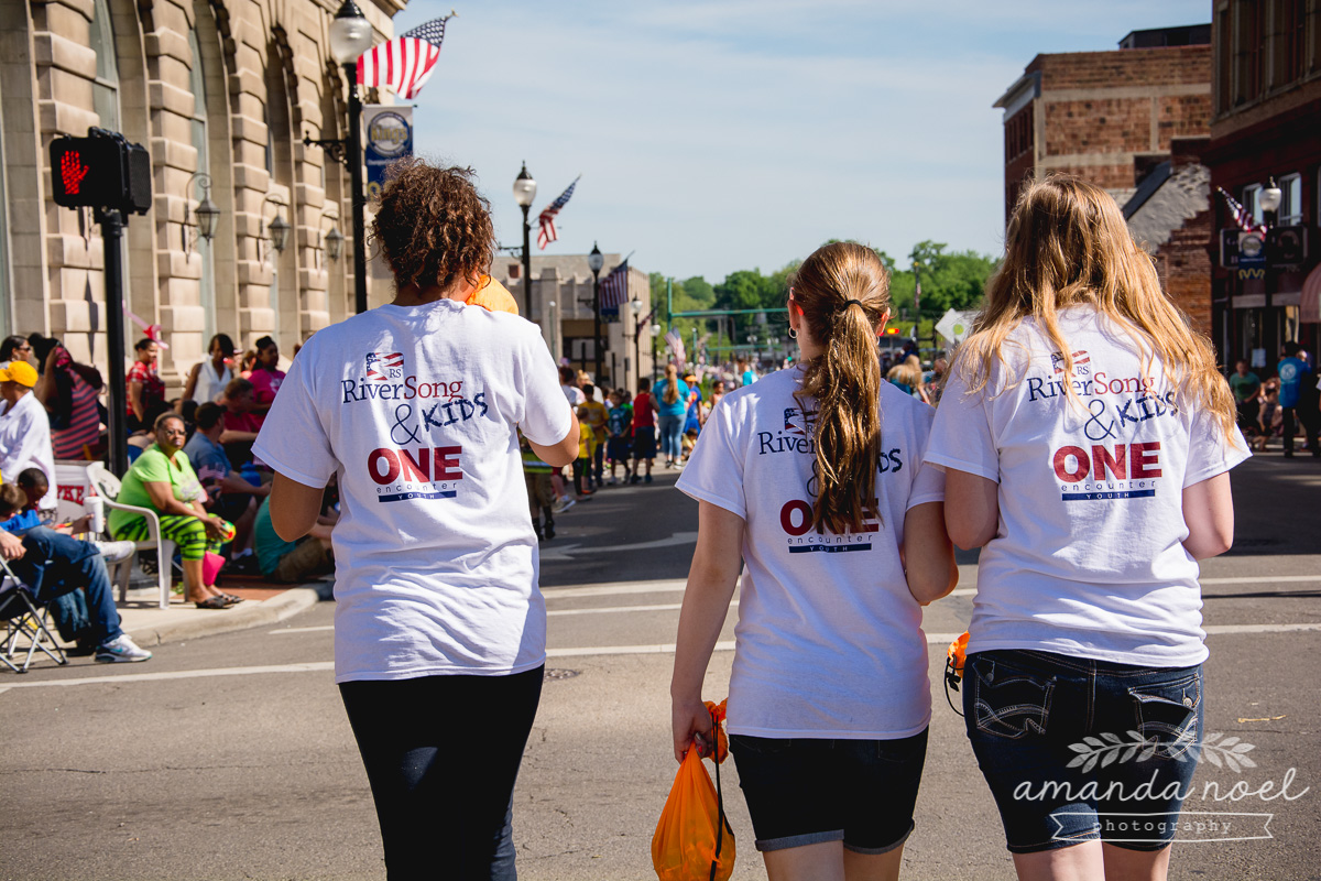
[[[1090,306],[1111,318],[1137,343],[1145,361],[1160,361],[1180,405],[1215,415],[1234,435],[1234,398],[1215,366],[1211,341],[1160,288],[1151,258],[1137,247],[1106,190],[1071,174],[1028,184],[1009,218],[1005,255],[987,283],[972,334],[959,346],[958,370],[971,392],[982,391],[1001,347],[1022,322],[1034,318],[1061,353],[1057,369],[1073,375],[1070,346],[1059,332],[1059,312]],[[1022,376],[1008,378],[1009,388]],[[1079,400],[1073,383],[1065,394]]]

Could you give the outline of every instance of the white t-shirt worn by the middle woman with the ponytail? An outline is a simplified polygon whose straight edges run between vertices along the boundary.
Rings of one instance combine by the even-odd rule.
[[[782,370],[725,395],[678,483],[746,523],[729,730],[910,737],[931,719],[931,687],[900,544],[908,509],[945,497],[945,476],[922,468],[933,412],[881,383],[880,523],[819,535],[807,491],[815,412],[804,420],[793,396],[801,375]]]

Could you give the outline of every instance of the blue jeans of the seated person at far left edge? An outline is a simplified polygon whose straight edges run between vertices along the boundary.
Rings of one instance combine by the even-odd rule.
[[[13,573],[33,589],[45,605],[82,588],[87,594],[89,642],[100,645],[118,638],[119,610],[110,585],[106,561],[91,542],[36,526],[22,534],[25,553],[9,563]]]

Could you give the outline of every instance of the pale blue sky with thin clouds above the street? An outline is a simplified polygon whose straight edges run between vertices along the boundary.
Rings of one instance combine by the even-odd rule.
[[[395,33],[452,7],[415,149],[477,170],[501,243],[520,240],[510,186],[526,160],[534,254],[596,240],[712,283],[828,238],[901,260],[923,239],[997,254],[991,104],[1033,55],[1211,13],[1209,0],[412,0]],[[559,242],[536,250],[535,214],[579,173]]]

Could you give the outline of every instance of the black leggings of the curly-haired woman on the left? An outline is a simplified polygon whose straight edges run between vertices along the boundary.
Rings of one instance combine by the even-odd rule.
[[[339,684],[390,881],[514,881],[511,799],[544,667]]]

